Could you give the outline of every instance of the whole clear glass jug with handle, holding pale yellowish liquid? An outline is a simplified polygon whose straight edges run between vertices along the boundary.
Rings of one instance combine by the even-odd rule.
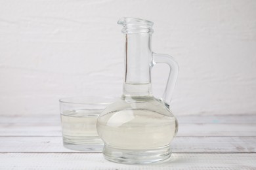
[[[121,18],[125,35],[125,77],[121,98],[98,117],[103,154],[117,163],[144,164],[167,160],[178,123],[169,109],[179,67],[166,54],[151,50],[153,22]],[[167,63],[169,78],[161,99],[152,95],[150,72],[156,63]]]

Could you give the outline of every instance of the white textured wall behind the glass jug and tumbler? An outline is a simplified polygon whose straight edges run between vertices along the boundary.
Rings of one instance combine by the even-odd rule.
[[[123,16],[153,21],[152,49],[178,61],[176,115],[256,113],[256,1],[0,0],[0,114],[121,95]],[[167,73],[154,69],[156,96]]]

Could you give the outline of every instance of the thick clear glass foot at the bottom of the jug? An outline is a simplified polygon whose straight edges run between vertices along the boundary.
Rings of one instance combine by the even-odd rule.
[[[171,145],[152,150],[127,150],[113,148],[105,144],[103,155],[106,160],[124,164],[150,164],[168,161],[171,157]]]

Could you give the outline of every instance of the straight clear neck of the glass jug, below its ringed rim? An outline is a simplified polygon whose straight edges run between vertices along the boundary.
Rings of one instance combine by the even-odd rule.
[[[151,34],[125,34],[125,78],[123,95],[151,95]]]

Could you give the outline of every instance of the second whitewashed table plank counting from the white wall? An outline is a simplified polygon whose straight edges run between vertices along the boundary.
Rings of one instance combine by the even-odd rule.
[[[0,124],[0,136],[60,137],[60,124]],[[256,136],[256,124],[179,124],[178,136]]]

